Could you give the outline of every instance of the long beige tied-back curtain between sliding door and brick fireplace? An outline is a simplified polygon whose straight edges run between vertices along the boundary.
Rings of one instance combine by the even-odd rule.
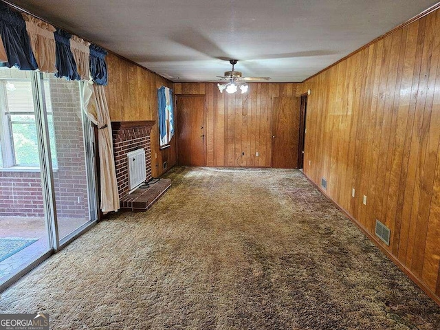
[[[90,80],[83,83],[83,107],[87,117],[98,126],[98,148],[100,157],[101,210],[119,209],[118,182],[113,158],[111,120],[103,86]]]

